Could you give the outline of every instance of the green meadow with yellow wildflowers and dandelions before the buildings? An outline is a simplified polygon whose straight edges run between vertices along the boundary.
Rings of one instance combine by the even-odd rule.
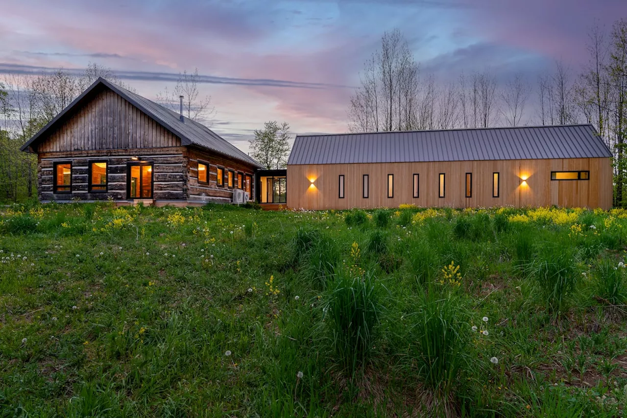
[[[0,212],[0,417],[627,404],[624,210]]]

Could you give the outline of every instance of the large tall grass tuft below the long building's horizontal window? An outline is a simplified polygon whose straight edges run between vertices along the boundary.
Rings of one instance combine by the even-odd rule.
[[[538,254],[533,274],[547,311],[564,313],[578,279],[572,250],[564,245],[548,245]]]

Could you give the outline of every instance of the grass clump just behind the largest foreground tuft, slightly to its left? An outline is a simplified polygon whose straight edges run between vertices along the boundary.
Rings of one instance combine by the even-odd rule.
[[[340,251],[335,241],[328,237],[318,237],[308,250],[307,265],[304,269],[308,281],[320,285],[322,289],[335,276],[337,266],[340,264]]]

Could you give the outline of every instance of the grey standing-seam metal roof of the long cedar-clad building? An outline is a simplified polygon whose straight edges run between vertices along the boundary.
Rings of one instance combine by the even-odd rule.
[[[287,164],[611,157],[592,125],[299,135]]]

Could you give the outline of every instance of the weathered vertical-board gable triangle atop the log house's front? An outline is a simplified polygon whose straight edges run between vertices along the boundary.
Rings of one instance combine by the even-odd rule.
[[[39,153],[181,146],[181,139],[112,90],[105,89],[42,138]]]

